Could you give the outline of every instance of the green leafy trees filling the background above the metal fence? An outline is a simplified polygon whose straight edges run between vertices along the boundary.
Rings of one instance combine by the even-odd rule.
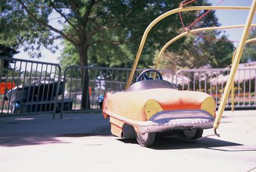
[[[58,48],[53,46],[54,39],[61,38],[65,46],[60,57],[63,68],[72,64],[130,68],[148,24],[164,12],[177,8],[179,3],[163,0],[1,1],[0,43],[23,46],[32,57],[40,57],[41,47],[54,52]],[[208,4],[201,0],[193,5]],[[182,13],[184,24],[188,26],[205,12]],[[52,13],[57,14],[61,28],[51,24]],[[220,24],[211,11],[190,29],[216,25]],[[138,67],[152,66],[157,50],[180,32],[182,28],[177,14],[159,22],[148,34]],[[227,39],[220,32],[203,35]],[[232,50],[232,43],[193,35],[168,48],[176,69],[205,65],[225,67],[230,63]],[[39,53],[35,56],[35,52]]]

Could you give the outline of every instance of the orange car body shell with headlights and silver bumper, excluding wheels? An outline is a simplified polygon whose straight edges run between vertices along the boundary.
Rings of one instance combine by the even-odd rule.
[[[188,127],[211,128],[215,117],[215,101],[204,92],[156,88],[108,92],[102,110],[105,118],[110,117],[111,133],[122,137],[124,124],[132,125],[137,133]],[[159,114],[165,120],[153,120]],[[175,114],[177,118],[173,118]]]

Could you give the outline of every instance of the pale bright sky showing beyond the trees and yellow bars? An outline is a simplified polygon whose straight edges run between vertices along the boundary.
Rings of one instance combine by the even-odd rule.
[[[212,5],[219,3],[220,0],[209,0],[209,3]],[[252,0],[224,0],[219,6],[250,6],[252,4]],[[221,25],[237,25],[237,24],[245,24],[246,18],[248,15],[248,11],[245,10],[216,10],[216,17]],[[50,17],[51,18],[51,17]],[[52,18],[56,18],[56,15],[53,15]],[[253,19],[253,23],[256,23],[255,18]],[[60,25],[54,20],[51,21],[51,24],[55,27],[60,28]],[[224,31],[224,30],[223,30]],[[226,29],[225,34],[228,35],[228,38],[231,41],[239,41],[241,39],[241,34],[243,29]],[[61,46],[61,41],[55,41],[56,45],[58,45],[59,50],[56,53],[52,54],[49,50],[45,48],[42,49],[42,57],[40,59],[33,59],[36,61],[42,62],[52,62],[59,63],[58,57],[61,56],[61,50],[63,46]],[[234,43],[237,46],[237,43]],[[29,55],[26,52],[23,52],[22,48],[20,48],[20,53],[14,55],[14,58],[17,59],[29,59]]]

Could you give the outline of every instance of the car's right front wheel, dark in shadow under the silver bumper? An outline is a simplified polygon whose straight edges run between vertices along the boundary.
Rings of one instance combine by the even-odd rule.
[[[184,129],[181,136],[186,141],[197,141],[198,138],[202,138],[204,129]]]

